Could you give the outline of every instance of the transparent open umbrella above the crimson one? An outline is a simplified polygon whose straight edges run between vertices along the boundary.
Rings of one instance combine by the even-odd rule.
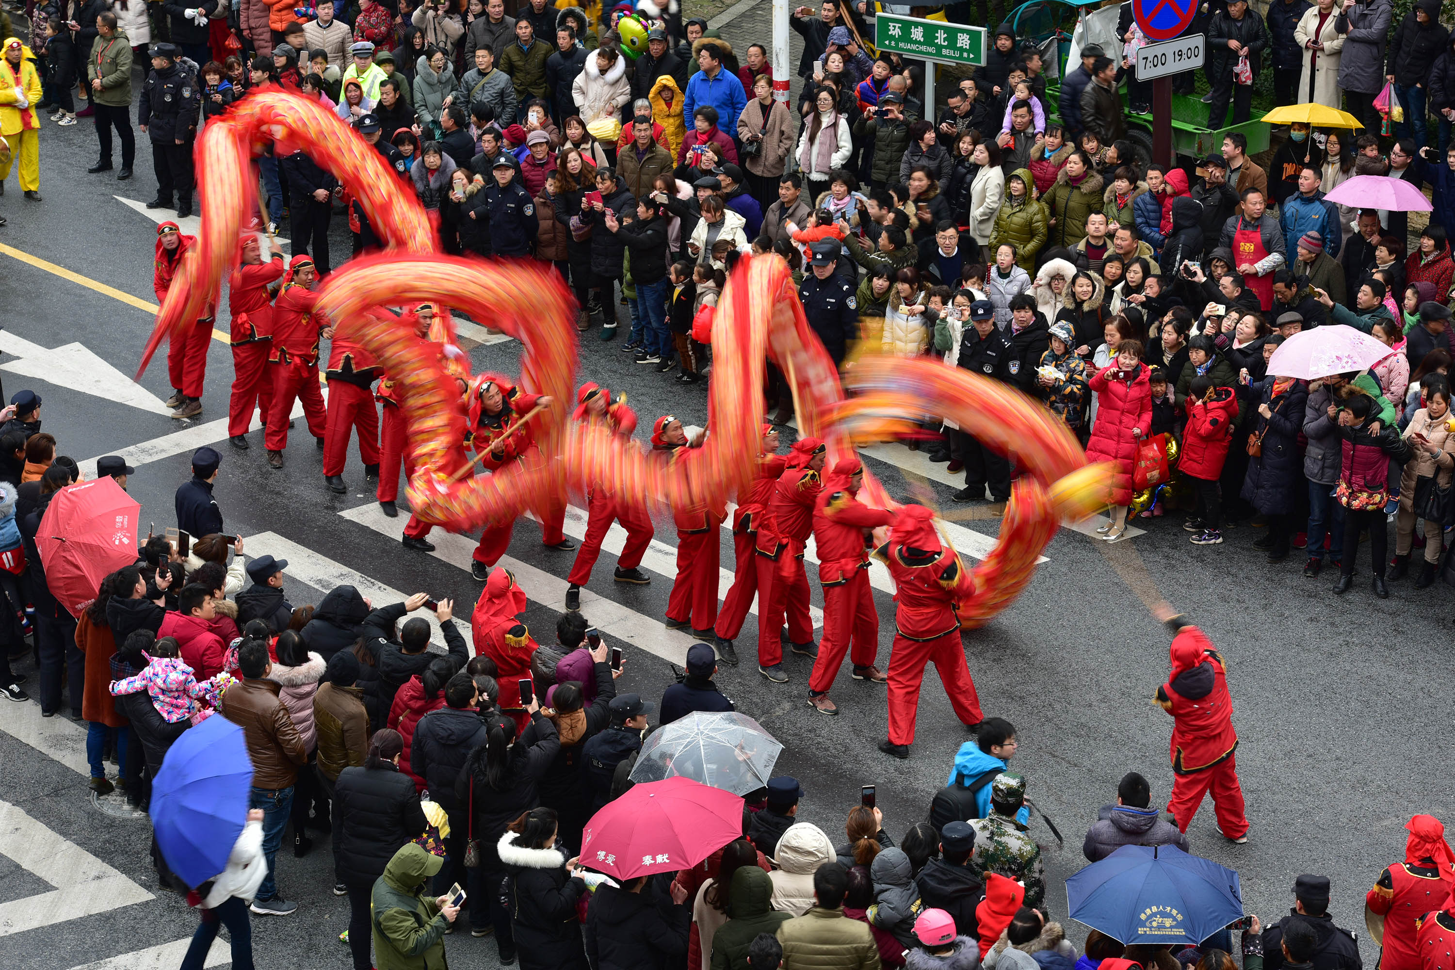
[[[631,781],[682,777],[744,795],[768,784],[781,750],[783,745],[745,714],[695,711],[647,736]]]

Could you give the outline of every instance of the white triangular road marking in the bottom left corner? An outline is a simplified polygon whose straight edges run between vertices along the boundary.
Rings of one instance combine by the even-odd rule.
[[[0,855],[55,887],[0,903],[0,937],[156,899],[9,801],[0,801]]]

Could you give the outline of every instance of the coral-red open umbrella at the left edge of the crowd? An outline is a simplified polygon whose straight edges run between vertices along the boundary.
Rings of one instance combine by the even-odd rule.
[[[102,476],[55,493],[35,544],[45,583],[73,617],[96,599],[100,580],[137,561],[141,505],[116,480]]]

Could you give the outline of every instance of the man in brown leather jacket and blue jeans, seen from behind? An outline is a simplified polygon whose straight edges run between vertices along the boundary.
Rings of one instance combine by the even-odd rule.
[[[243,729],[247,758],[253,762],[253,785],[247,795],[247,807],[263,810],[263,855],[268,858],[268,875],[258,887],[258,899],[250,909],[259,916],[287,916],[298,905],[285,902],[278,894],[274,859],[278,855],[278,843],[282,842],[282,830],[288,827],[298,766],[308,763],[308,749],[294,727],[288,708],[278,700],[282,688],[276,681],[266,679],[272,673],[268,643],[243,640],[237,649],[237,669],[243,679],[223,692],[217,711]]]

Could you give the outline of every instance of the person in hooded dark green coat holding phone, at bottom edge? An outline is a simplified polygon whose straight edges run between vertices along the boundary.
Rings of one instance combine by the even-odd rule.
[[[447,970],[445,928],[425,880],[444,864],[438,855],[409,842],[394,852],[374,883],[370,922],[374,926],[377,970]]]

